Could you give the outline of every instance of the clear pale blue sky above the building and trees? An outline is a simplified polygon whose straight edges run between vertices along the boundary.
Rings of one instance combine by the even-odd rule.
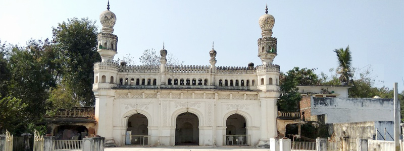
[[[136,59],[145,49],[166,49],[188,65],[209,65],[215,41],[218,66],[261,64],[258,19],[275,17],[278,38],[274,63],[328,72],[337,67],[336,48],[349,45],[352,65],[373,68],[376,86],[404,90],[404,1],[116,1],[118,54]],[[30,38],[52,38],[52,27],[68,18],[96,20],[107,1],[2,1],[0,40],[25,45]],[[139,61],[136,60],[138,63]],[[384,81],[384,83],[378,82]]]

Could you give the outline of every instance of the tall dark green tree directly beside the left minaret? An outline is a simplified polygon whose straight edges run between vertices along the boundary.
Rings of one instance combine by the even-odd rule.
[[[61,84],[72,91],[69,98],[84,106],[93,106],[93,65],[101,60],[96,51],[95,21],[72,18],[59,23],[53,28],[53,41],[60,54]]]

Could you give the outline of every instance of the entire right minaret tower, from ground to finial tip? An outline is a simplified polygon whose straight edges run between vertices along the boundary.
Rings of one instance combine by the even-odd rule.
[[[278,108],[276,106],[280,95],[279,87],[279,65],[272,64],[276,53],[277,39],[272,37],[272,28],[275,24],[275,18],[268,14],[268,6],[265,14],[260,17],[259,24],[262,30],[262,37],[258,39],[258,56],[261,58],[262,65],[257,69],[257,89],[259,92],[259,100],[261,105],[261,139],[260,145],[269,142],[269,138],[278,135],[276,118],[278,116]]]

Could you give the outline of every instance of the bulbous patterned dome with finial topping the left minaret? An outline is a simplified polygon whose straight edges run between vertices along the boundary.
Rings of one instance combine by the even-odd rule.
[[[108,1],[107,11],[104,11],[99,15],[99,22],[103,25],[102,32],[112,34],[114,32],[116,21],[117,16],[110,11],[110,1]]]

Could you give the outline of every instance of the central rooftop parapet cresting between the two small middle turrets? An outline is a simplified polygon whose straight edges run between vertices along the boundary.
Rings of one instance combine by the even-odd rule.
[[[210,72],[208,65],[167,65],[167,72],[176,73],[208,73]]]

